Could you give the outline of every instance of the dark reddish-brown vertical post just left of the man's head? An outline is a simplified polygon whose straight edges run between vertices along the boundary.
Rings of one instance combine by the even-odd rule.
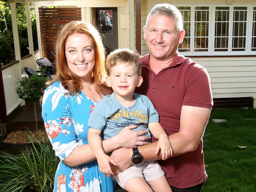
[[[136,50],[141,54],[141,0],[136,0]]]

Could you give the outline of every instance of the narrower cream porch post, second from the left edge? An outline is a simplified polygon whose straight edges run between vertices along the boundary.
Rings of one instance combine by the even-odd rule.
[[[26,11],[27,30],[28,30],[29,53],[33,55],[34,47],[33,47],[33,37],[32,37],[32,26],[31,26],[31,19],[30,19],[30,5],[28,0],[25,0],[25,11]]]

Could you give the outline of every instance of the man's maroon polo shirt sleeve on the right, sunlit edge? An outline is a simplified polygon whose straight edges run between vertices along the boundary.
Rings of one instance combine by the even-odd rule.
[[[197,68],[188,75],[186,94],[182,105],[211,109],[213,105],[210,77],[204,67]]]

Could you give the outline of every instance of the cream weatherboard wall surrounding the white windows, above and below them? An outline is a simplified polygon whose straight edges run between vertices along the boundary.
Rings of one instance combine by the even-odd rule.
[[[141,1],[141,54],[148,54],[147,45],[143,38],[143,26],[150,9],[158,3],[170,4],[223,4],[223,0],[142,0]],[[235,4],[256,4],[255,0],[236,0]],[[135,19],[134,10],[134,19]],[[134,21],[135,24],[135,21]],[[135,34],[135,27],[134,27]],[[135,39],[134,39],[135,44]],[[211,89],[213,98],[235,98],[235,97],[252,97],[254,98],[254,108],[256,108],[256,55],[241,55],[239,57],[193,57],[200,65],[204,66],[211,79]]]

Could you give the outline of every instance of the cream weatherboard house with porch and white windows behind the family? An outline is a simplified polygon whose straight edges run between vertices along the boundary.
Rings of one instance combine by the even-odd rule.
[[[21,103],[15,95],[15,86],[17,86],[15,83],[18,77],[24,75],[22,72],[24,63],[34,65],[35,59],[43,56],[54,59],[51,54],[54,55],[53,40],[56,39],[58,31],[56,26],[69,20],[81,18],[99,28],[104,38],[104,44],[109,51],[115,48],[130,48],[137,49],[142,55],[145,55],[148,50],[143,39],[142,27],[150,9],[155,4],[163,2],[174,4],[180,9],[186,35],[179,46],[179,52],[192,57],[194,61],[208,70],[216,103],[218,100],[229,100],[230,102],[230,99],[224,98],[236,98],[234,105],[244,106],[247,105],[247,102],[253,102],[253,107],[256,108],[255,0],[7,0],[7,2],[11,4],[16,62],[23,64],[12,64],[12,66],[16,65],[16,76],[10,74],[13,70],[7,71],[10,67],[2,68],[6,114],[11,113]],[[19,53],[15,3],[20,2],[25,4],[27,15],[29,15],[30,5],[35,7],[37,14],[38,42],[39,49],[42,51],[37,53],[31,51],[29,61],[28,59],[22,60]],[[47,14],[49,16],[49,13],[46,13],[49,10],[43,8],[45,6],[56,6],[58,10],[75,9],[79,13],[73,14],[72,12],[64,16],[59,12],[58,20],[53,19],[56,23],[52,24],[46,19],[46,28],[43,28],[43,17],[46,17]],[[54,14],[57,12],[55,11]],[[74,16],[76,18],[73,18],[72,14],[76,15]],[[104,17],[111,19],[111,29],[106,26],[104,28],[102,23]],[[30,50],[33,50],[29,16],[27,23]],[[53,26],[56,31],[48,30],[52,35],[46,33],[47,27]],[[48,41],[49,39],[52,42]],[[10,78],[14,76],[16,79]],[[10,86],[14,88],[10,88]],[[9,91],[10,89],[14,90]]]

